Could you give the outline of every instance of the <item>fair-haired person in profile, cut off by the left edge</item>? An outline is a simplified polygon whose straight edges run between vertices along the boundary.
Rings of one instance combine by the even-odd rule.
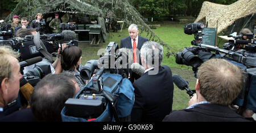
[[[13,50],[0,48],[0,121],[35,121],[30,108],[6,114],[6,110],[15,105],[19,93],[20,66]]]

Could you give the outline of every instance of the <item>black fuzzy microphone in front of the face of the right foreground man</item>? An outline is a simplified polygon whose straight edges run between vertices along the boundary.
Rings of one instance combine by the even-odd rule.
[[[183,78],[181,78],[180,75],[172,75],[172,80],[174,81],[174,83],[176,84],[176,86],[181,89],[181,90],[186,90],[187,94],[189,95],[189,97],[192,97],[193,94],[195,93],[195,90],[191,90],[188,88],[188,82],[186,80],[184,80]]]

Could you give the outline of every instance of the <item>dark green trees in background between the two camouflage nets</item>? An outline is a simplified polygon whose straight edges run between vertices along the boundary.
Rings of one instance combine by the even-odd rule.
[[[230,5],[237,0],[209,0],[209,2]],[[130,0],[131,4],[143,15],[154,18],[164,16],[197,16],[203,0]]]

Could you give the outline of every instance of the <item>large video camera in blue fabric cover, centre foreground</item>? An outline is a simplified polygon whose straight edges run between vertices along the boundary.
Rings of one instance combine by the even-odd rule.
[[[128,67],[122,68],[128,64],[123,54],[118,52],[118,44],[110,42],[100,59],[81,68],[81,78],[90,80],[75,98],[65,102],[63,121],[130,121],[134,88],[127,79]]]

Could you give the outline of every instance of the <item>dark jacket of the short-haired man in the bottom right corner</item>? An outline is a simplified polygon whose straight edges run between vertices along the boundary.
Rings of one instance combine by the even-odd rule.
[[[164,122],[248,122],[228,106],[199,104],[192,109],[175,110]]]

